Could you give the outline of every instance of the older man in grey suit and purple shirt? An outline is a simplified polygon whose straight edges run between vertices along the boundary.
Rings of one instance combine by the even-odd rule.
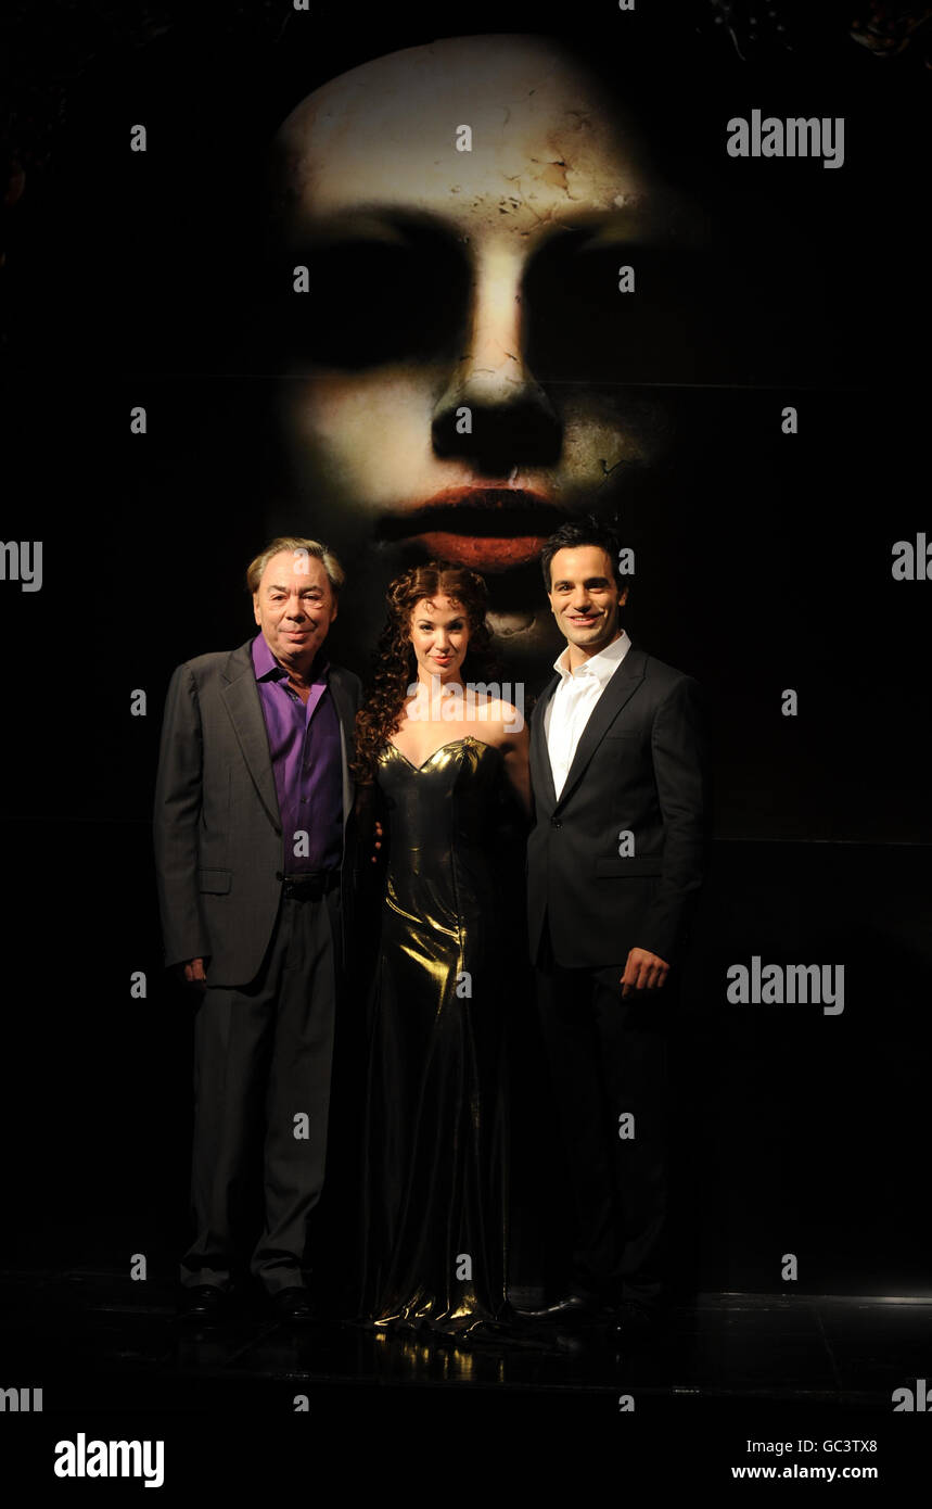
[[[303,1254],[324,1179],[336,976],[351,902],[350,759],[359,678],[327,661],[344,572],[317,540],[247,570],[259,634],[179,665],[155,789],[166,964],[195,1022],[195,1239],[182,1313],[223,1317],[237,1207],[264,1138],[250,1269],[285,1320],[311,1319]]]

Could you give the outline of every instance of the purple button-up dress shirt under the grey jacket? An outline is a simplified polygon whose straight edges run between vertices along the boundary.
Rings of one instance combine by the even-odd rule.
[[[317,656],[306,703],[290,690],[288,672],[261,632],[252,641],[252,664],[282,816],[282,869],[287,875],[336,869],[342,859],[342,759],[339,720],[327,690],[329,662]]]

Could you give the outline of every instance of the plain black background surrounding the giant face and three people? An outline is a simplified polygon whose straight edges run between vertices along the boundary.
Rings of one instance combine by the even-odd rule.
[[[715,844],[677,1037],[679,1242],[704,1287],[777,1287],[796,1252],[799,1289],[917,1293],[932,584],[894,582],[890,564],[894,540],[932,536],[932,78],[921,57],[848,42],[840,8],[778,9],[793,51],[743,59],[712,5],[572,15],[573,44],[653,110],[661,152],[721,223],[731,291],[689,383],[664,392],[671,456],[624,515],[629,631],[695,675],[713,714]],[[468,29],[556,23],[471,6]],[[190,1003],[161,973],[148,824],[170,672],[253,632],[244,566],[284,486],[267,143],[317,83],[446,32],[416,8],[338,5],[15,17],[5,146],[26,189],[0,275],[3,539],[42,539],[45,579],[0,582],[8,1262],[124,1269],[145,1251],[172,1272],[181,1251]],[[727,119],[754,106],[845,115],[845,166],[725,158]],[[137,121],[146,154],[128,149]],[[845,1014],[725,1005],[727,966],[753,954],[845,964]],[[529,1000],[514,1011],[531,1283],[560,1271],[561,1201]]]

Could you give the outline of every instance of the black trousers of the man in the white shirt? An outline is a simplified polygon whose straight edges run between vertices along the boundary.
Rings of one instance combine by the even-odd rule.
[[[661,990],[623,1000],[623,972],[624,960],[556,964],[544,925],[537,1002],[576,1203],[570,1289],[605,1304],[653,1304],[664,1277],[667,1029],[677,982],[671,970]]]

